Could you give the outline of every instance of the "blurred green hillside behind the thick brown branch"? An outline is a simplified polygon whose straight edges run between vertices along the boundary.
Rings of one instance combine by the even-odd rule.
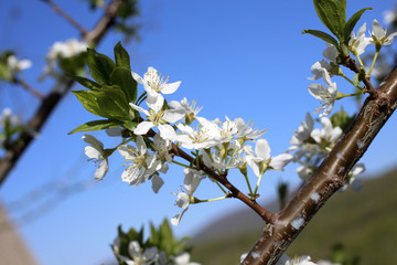
[[[390,171],[365,181],[361,192],[336,193],[287,254],[305,254],[318,261],[329,257],[331,247],[342,243],[351,256],[360,256],[360,265],[397,264],[396,190],[397,171]],[[224,225],[227,225],[227,218]],[[247,229],[244,233],[233,231],[201,239],[194,246],[193,261],[203,265],[238,264],[239,255],[254,245],[261,227]]]

